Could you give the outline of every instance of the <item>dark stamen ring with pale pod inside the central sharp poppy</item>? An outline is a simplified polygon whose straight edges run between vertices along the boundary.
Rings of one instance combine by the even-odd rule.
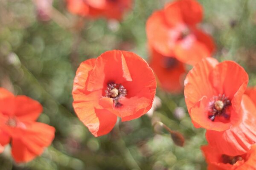
[[[107,89],[105,90],[105,96],[113,99],[116,108],[122,106],[119,99],[127,95],[127,90],[121,84],[116,84],[115,82],[109,82]]]

